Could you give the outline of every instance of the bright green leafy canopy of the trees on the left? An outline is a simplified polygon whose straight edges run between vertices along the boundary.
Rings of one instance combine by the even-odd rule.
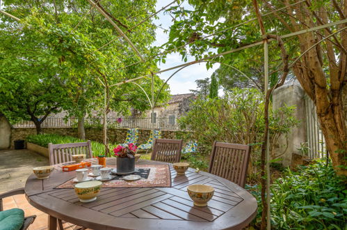
[[[111,0],[105,8],[118,26],[127,31],[155,12],[155,2]],[[99,4],[104,6],[106,3]],[[115,84],[156,70],[152,60],[118,70],[138,61],[138,56],[121,38],[116,39],[118,33],[104,16],[95,9],[89,13],[88,1],[13,0],[6,1],[4,6],[7,12],[21,19],[16,22],[0,15],[1,21],[5,22],[0,25],[0,96],[14,107],[20,105],[23,98],[30,100],[29,95],[36,91],[45,96],[40,101],[64,109],[69,116],[81,118],[92,110],[103,109],[104,87],[98,79],[104,84]],[[136,17],[129,17],[134,9]],[[147,20],[127,34],[145,58],[154,52],[150,47],[155,38],[154,28],[152,20]],[[99,49],[110,40],[113,42],[106,49]],[[158,91],[163,81],[157,76],[154,78],[154,90]],[[27,87],[26,82],[32,87]],[[150,82],[150,79],[137,81],[147,93],[151,89]],[[42,89],[54,86],[54,89],[43,91],[37,85]],[[18,89],[23,89],[24,93]],[[16,101],[17,94],[22,98]],[[166,86],[158,102],[166,102],[168,96]],[[109,98],[111,109],[121,114],[129,114],[130,107],[141,111],[150,108],[145,93],[135,84],[113,87]],[[59,103],[55,105],[52,101]],[[47,107],[43,102],[38,105]],[[36,104],[36,101],[32,103]],[[12,108],[1,105],[0,109],[10,117],[17,114],[19,118],[31,118],[25,106],[10,114]],[[35,114],[42,115],[45,113]]]

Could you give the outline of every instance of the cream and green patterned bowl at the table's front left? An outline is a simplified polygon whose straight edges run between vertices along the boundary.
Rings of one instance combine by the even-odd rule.
[[[97,194],[99,194],[101,188],[101,181],[86,181],[74,185],[74,192],[79,197],[79,201],[88,203],[97,199]]]

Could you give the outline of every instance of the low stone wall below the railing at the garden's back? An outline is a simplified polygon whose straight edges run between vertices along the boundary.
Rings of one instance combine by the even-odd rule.
[[[35,128],[13,128],[11,130],[11,146],[14,148],[13,141],[17,139],[26,139],[28,135],[35,135]],[[66,135],[78,137],[77,128],[42,128],[43,133]],[[150,138],[151,130],[139,130],[138,144],[144,144]],[[161,137],[163,139],[180,139],[181,131],[177,130],[161,130]],[[127,137],[127,129],[125,128],[109,128],[107,130],[109,143],[119,144],[125,141]],[[86,139],[91,141],[99,141],[102,143],[102,129],[101,128],[86,128]]]

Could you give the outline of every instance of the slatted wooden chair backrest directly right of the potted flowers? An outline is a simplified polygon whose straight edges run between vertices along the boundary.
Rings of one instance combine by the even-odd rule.
[[[151,160],[162,162],[179,162],[181,160],[183,140],[155,139]]]

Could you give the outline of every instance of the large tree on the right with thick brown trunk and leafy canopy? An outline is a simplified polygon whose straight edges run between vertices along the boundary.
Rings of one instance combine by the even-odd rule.
[[[184,9],[182,6],[170,8],[172,15],[175,15],[175,21],[170,27],[170,39],[163,49],[179,52],[182,59],[190,55],[198,60],[211,54],[220,54],[261,42],[263,36],[254,2],[256,1],[190,0],[188,3],[193,6],[193,10]],[[332,153],[335,169],[339,174],[347,174],[347,128],[344,118],[346,107],[343,107],[341,96],[347,77],[347,30],[344,29],[346,24],[302,33],[285,40],[280,37],[329,22],[345,20],[347,1],[260,3],[265,36],[267,39],[274,39],[269,43],[271,85],[282,81],[282,73],[287,75],[289,71],[298,79],[316,105],[318,119],[328,150]],[[284,9],[277,10],[279,8]],[[277,12],[271,13],[273,10]],[[318,43],[321,40],[323,41]],[[243,50],[212,59],[207,63],[207,68],[215,62],[236,68],[247,63],[252,70],[253,66],[257,66],[257,62],[260,63],[259,60],[264,54],[261,47],[250,50],[253,52]],[[297,59],[298,56],[300,59]]]

